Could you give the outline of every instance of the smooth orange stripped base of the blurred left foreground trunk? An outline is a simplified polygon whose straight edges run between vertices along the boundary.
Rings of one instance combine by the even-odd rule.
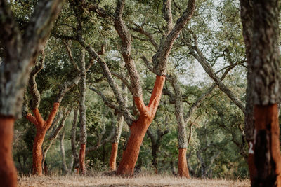
[[[0,116],[0,186],[17,186],[17,170],[12,157],[14,123],[14,118]]]

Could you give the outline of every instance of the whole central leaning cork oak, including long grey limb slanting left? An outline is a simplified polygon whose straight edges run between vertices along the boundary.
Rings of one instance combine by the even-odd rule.
[[[169,54],[171,52],[171,48],[174,44],[174,41],[178,37],[178,34],[180,34],[183,27],[188,23],[188,21],[192,18],[193,13],[195,12],[195,0],[189,0],[188,6],[184,13],[181,15],[180,18],[176,21],[176,24],[172,28],[171,25],[172,19],[171,19],[171,2],[169,2],[167,5],[169,6],[168,9],[166,9],[166,15],[165,20],[169,27],[166,27],[165,34],[162,38],[162,45],[159,45],[159,48],[157,48],[157,53],[152,57],[153,66],[155,74],[157,74],[157,78],[155,81],[155,90],[157,92],[152,92],[152,97],[150,98],[149,106],[145,106],[143,104],[142,99],[142,89],[141,89],[141,81],[138,75],[138,71],[136,69],[136,65],[133,62],[133,57],[131,55],[131,34],[129,33],[129,29],[126,27],[122,20],[122,14],[124,11],[124,0],[117,0],[117,7],[115,9],[115,17],[112,18],[110,15],[107,15],[105,12],[105,16],[109,19],[114,20],[115,23],[115,29],[117,33],[119,34],[120,39],[122,39],[122,57],[124,59],[124,62],[126,63],[126,69],[128,70],[130,79],[131,79],[131,85],[128,83],[128,81],[124,80],[124,78],[121,78],[123,83],[129,88],[129,90],[133,94],[134,101],[136,102],[136,106],[138,106],[138,110],[141,112],[141,116],[138,118],[138,120],[133,120],[133,116],[131,116],[131,113],[129,113],[128,109],[126,109],[126,104],[124,102],[124,98],[122,97],[121,93],[119,92],[119,88],[117,84],[115,84],[114,79],[112,78],[112,74],[110,72],[110,69],[107,67],[107,64],[105,60],[103,60],[98,53],[96,53],[95,50],[91,47],[91,45],[88,45],[82,36],[81,28],[77,31],[77,37],[75,38],[83,48],[85,48],[89,55],[100,64],[102,71],[102,74],[107,79],[107,82],[110,85],[110,88],[112,88],[112,91],[115,94],[115,98],[117,99],[117,102],[119,104],[119,107],[115,106],[114,104],[111,104],[112,107],[117,109],[122,115],[124,116],[124,120],[131,128],[131,137],[129,137],[129,142],[127,144],[127,148],[123,153],[123,157],[121,160],[121,164],[119,168],[117,169],[117,173],[119,174],[133,174],[133,167],[136,164],[136,160],[138,158],[138,152],[139,147],[141,146],[141,141],[143,140],[143,137],[145,135],[145,131],[148,129],[148,126],[150,125],[151,121],[153,120],[155,116],[155,112],[157,110],[157,106],[159,104],[159,99],[161,97],[162,93],[162,86],[165,81],[165,75],[166,75],[166,63],[168,61]],[[82,19],[81,15],[81,8],[75,8],[74,4],[72,4],[72,8],[74,9],[75,15],[77,17],[77,20],[80,20],[81,22],[84,21]],[[86,7],[85,7],[86,8]],[[98,10],[101,10],[102,8],[98,8]],[[97,8],[91,11],[95,11]],[[81,22],[79,23],[81,25]],[[160,86],[161,85],[161,86]],[[161,89],[157,89],[157,88]],[[155,97],[157,95],[157,97]],[[141,132],[137,132],[137,130],[141,130]],[[136,140],[136,144],[133,144],[133,141]],[[131,147],[130,147],[131,146]],[[129,151],[127,151],[129,150]],[[133,152],[131,152],[134,150]],[[130,153],[131,152],[131,153]],[[133,158],[131,158],[130,155],[133,155]],[[128,159],[127,159],[128,158]]]

